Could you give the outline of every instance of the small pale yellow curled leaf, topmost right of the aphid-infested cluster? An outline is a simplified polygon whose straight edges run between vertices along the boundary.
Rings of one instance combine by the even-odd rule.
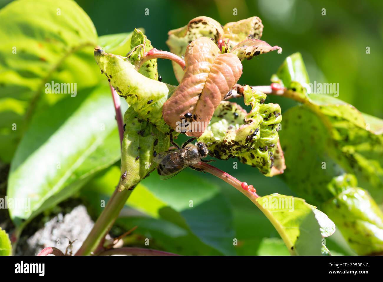
[[[244,20],[226,23],[223,27],[224,37],[228,38],[231,48],[234,48],[240,42],[262,36],[264,26],[257,16],[252,16]]]

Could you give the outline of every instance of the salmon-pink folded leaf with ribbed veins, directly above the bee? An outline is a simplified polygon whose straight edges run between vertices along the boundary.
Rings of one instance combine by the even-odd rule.
[[[220,53],[206,37],[188,46],[183,79],[162,110],[165,122],[177,132],[200,137],[216,107],[241,77],[239,59],[234,54]]]

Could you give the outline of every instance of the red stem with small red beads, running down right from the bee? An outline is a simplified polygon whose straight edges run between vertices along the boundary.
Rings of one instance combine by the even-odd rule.
[[[207,163],[204,162],[199,162],[196,165],[193,165],[194,167],[201,168],[205,172],[211,173],[214,176],[217,176],[218,178],[222,179],[226,183],[229,183],[231,186],[236,188],[237,190],[241,191],[242,194],[246,195],[247,198],[249,198],[251,201],[256,201],[255,199],[259,198],[257,193],[249,190],[245,190],[244,187],[244,182],[239,181],[237,178],[234,176],[231,176],[229,173],[226,173],[219,168],[213,167],[212,165],[208,165]],[[247,186],[247,185],[246,185]]]

